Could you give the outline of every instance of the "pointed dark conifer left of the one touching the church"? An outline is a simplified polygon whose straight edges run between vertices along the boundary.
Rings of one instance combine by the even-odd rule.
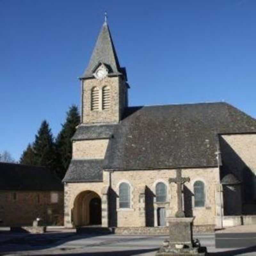
[[[35,154],[35,164],[45,166],[50,169],[54,165],[54,142],[51,129],[46,120],[44,120],[36,134],[33,143],[33,151]]]

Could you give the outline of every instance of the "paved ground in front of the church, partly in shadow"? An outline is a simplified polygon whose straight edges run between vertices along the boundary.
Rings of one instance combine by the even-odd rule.
[[[243,226],[229,230],[230,232],[225,230],[216,233],[217,243],[221,242],[220,244],[225,248],[216,248],[214,233],[196,234],[194,238],[198,238],[201,245],[207,247],[210,256],[256,255],[255,233],[252,233],[256,231],[256,226]],[[50,232],[39,235],[0,231],[0,254],[153,256],[165,238],[167,236],[76,235],[74,229],[52,229]],[[250,241],[249,244],[248,241]],[[234,248],[234,245],[242,248]]]

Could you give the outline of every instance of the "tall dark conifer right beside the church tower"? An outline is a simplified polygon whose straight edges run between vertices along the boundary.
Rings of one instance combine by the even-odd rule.
[[[80,123],[80,115],[75,105],[69,107],[66,121],[56,138],[56,161],[55,170],[58,176],[63,179],[72,157],[71,138],[76,132],[76,126]]]

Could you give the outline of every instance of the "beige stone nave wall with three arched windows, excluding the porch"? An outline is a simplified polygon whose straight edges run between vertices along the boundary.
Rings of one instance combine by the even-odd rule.
[[[219,184],[219,169],[204,168],[204,169],[183,169],[182,176],[190,177],[191,182],[184,186],[185,205],[184,210],[187,216],[196,216],[195,225],[215,225],[215,187]],[[111,174],[112,187],[117,198],[117,223],[118,227],[140,227],[145,226],[145,219],[150,214],[148,209],[150,205],[146,204],[145,216],[141,217],[140,191],[141,186],[144,186],[146,192],[146,201],[151,203],[153,200],[148,200],[147,197],[154,196],[154,186],[156,182],[164,182],[168,184],[169,178],[175,178],[175,170],[151,170],[151,171],[117,171]],[[194,207],[193,184],[196,180],[201,180],[205,184],[205,206]],[[127,182],[131,185],[131,208],[119,209],[118,194],[119,184]],[[170,204],[166,208],[168,216],[173,216],[177,211],[177,195],[176,185],[168,186],[168,198]],[[150,203],[149,203],[150,204]],[[154,205],[152,205],[154,208]],[[116,211],[114,208],[109,208],[110,212]],[[151,213],[151,218],[156,218],[155,214]],[[111,219],[111,216],[110,216]],[[155,220],[151,221],[156,223]]]

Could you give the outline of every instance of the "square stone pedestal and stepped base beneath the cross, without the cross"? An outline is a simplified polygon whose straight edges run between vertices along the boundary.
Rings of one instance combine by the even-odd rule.
[[[156,256],[205,256],[206,247],[201,247],[199,241],[193,241],[192,218],[166,219],[169,221],[170,239],[163,242]]]

